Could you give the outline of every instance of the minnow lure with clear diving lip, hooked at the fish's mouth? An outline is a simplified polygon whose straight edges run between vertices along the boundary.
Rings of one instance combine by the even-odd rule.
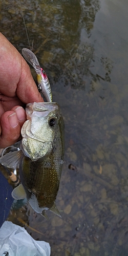
[[[45,96],[47,101],[52,102],[50,82],[45,70],[40,67],[37,57],[27,48],[22,49],[22,54],[36,72],[39,92]]]

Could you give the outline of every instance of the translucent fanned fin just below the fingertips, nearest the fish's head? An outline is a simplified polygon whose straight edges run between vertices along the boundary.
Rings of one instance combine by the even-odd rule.
[[[5,156],[0,157],[0,163],[8,168],[15,169],[20,161],[22,150],[7,153]]]

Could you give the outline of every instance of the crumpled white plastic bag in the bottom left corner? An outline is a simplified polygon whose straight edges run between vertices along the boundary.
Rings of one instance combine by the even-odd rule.
[[[50,256],[50,245],[35,241],[24,227],[5,221],[0,228],[0,255],[5,251],[9,256]]]

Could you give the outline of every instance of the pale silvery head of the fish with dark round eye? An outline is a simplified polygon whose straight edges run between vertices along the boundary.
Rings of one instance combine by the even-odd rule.
[[[26,106],[27,121],[22,127],[22,150],[32,161],[47,156],[53,148],[61,115],[56,102],[34,102]]]

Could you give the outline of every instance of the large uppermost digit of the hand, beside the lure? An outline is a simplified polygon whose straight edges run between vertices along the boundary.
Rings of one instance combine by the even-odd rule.
[[[0,33],[0,59],[0,89],[3,95],[17,96],[25,104],[44,101],[27,62],[2,33]]]

